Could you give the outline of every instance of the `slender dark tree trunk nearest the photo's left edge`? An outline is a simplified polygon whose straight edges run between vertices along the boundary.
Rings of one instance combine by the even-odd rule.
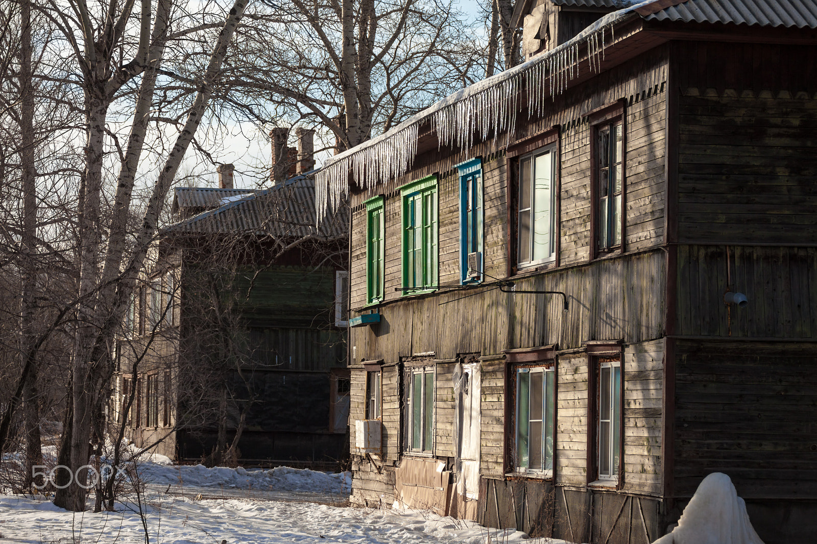
[[[20,306],[21,334],[20,360],[25,367],[29,352],[34,344],[34,292],[37,288],[37,190],[35,186],[36,171],[34,167],[34,89],[31,68],[31,3],[24,0],[20,3],[20,140],[22,148],[23,191],[23,262],[22,296]],[[25,380],[23,402],[25,403],[25,484],[30,488],[33,478],[33,466],[42,462],[42,444],[40,440],[40,414],[38,410],[37,377],[38,361],[36,356],[30,363],[28,377]]]

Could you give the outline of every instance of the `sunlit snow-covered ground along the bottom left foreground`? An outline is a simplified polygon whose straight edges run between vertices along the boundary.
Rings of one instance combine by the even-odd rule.
[[[201,500],[150,497],[145,516],[150,542],[228,544],[344,542],[349,544],[484,544],[487,529],[428,513],[338,508],[306,502],[247,499]],[[50,502],[0,496],[2,542],[27,544],[78,542],[145,542],[138,513],[74,514]],[[524,533],[491,530],[492,541],[513,544]],[[503,535],[507,535],[503,537]]]

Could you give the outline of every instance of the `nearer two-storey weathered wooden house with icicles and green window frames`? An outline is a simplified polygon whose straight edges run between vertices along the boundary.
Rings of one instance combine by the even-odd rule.
[[[543,2],[543,51],[316,174],[354,504],[635,544],[721,471],[767,544],[817,533],[817,6],[542,30],[627,3]]]

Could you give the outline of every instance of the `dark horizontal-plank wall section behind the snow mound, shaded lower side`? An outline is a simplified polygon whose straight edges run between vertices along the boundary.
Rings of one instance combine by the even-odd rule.
[[[817,497],[817,345],[678,341],[675,488],[724,472],[741,497]]]

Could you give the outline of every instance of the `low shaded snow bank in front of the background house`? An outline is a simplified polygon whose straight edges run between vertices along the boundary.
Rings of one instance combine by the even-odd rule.
[[[173,466],[164,456],[152,456],[136,467],[145,484],[181,485],[193,487],[223,487],[237,489],[269,489],[328,494],[349,494],[349,472],[328,474],[309,469],[279,466],[271,470],[245,470],[203,465]]]

